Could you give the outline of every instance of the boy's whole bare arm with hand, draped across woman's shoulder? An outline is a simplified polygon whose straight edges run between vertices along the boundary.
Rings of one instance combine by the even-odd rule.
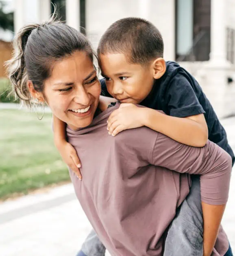
[[[108,130],[113,136],[122,130],[140,126],[147,126],[175,141],[194,147],[205,146],[208,139],[208,128],[203,114],[185,118],[172,117],[152,108],[121,104],[108,120]]]

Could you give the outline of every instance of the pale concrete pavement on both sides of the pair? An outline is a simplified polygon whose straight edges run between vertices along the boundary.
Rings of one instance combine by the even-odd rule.
[[[235,151],[235,118],[222,123]],[[222,224],[235,252],[234,172]],[[6,201],[0,204],[0,256],[75,256],[90,229],[71,184]]]

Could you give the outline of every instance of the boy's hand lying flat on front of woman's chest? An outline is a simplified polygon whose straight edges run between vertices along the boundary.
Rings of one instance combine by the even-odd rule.
[[[75,148],[65,141],[63,144],[57,146],[63,161],[69,166],[69,168],[76,174],[78,179],[82,180],[82,175],[80,172],[81,162],[78,158]]]

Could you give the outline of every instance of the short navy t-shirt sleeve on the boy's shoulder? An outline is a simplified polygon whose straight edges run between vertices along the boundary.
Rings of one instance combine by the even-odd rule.
[[[204,114],[189,77],[178,73],[172,79],[167,93],[168,110],[173,117],[189,117]]]

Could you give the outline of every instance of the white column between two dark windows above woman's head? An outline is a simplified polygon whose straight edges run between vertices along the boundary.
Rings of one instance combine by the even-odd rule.
[[[66,0],[66,24],[80,31],[79,0]]]

